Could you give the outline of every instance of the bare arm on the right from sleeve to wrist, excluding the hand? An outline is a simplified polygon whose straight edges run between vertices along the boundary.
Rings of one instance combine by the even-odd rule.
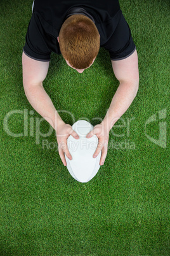
[[[138,55],[135,50],[132,55],[123,60],[112,60],[115,77],[120,84],[110,104],[103,122],[110,131],[117,120],[128,110],[138,92],[139,71]]]

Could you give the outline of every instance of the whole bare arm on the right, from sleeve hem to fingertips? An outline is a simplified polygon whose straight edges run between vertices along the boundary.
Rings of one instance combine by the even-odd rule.
[[[103,165],[107,156],[107,145],[109,131],[117,120],[128,110],[133,102],[134,97],[138,92],[139,87],[139,72],[138,72],[138,55],[136,50],[132,55],[123,60],[112,60],[115,77],[119,80],[120,85],[115,92],[110,107],[108,108],[105,118],[94,127],[87,138],[91,138],[96,134],[99,138],[98,147],[95,155],[98,155],[102,150],[100,165]]]

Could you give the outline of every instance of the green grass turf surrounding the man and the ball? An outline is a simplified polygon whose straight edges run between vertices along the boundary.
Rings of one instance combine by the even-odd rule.
[[[36,111],[30,115],[33,109],[22,85],[22,48],[32,1],[1,0],[0,255],[170,254],[169,129],[165,148],[145,134],[158,139],[159,122],[168,121],[169,1],[120,4],[138,50],[140,89],[116,124],[124,127],[110,131],[104,166],[93,180],[78,183],[60,160],[55,132],[36,144],[36,118],[41,117]],[[118,85],[103,48],[81,75],[52,54],[44,81],[56,110],[69,111],[75,121],[88,118],[93,125],[100,123],[94,118],[105,117]],[[4,131],[5,117],[14,110],[28,111],[28,136],[14,138]],[[166,118],[159,120],[161,110]],[[60,114],[73,124],[69,113]],[[145,131],[155,114],[157,121]],[[23,114],[8,121],[11,132],[23,132]],[[48,132],[48,123],[42,122],[40,129]],[[44,139],[51,149],[42,148]]]

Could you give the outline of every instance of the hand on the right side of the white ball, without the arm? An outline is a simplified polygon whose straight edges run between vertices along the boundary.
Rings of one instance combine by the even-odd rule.
[[[105,124],[101,122],[101,124],[96,125],[93,130],[89,132],[86,138],[91,138],[93,135],[98,137],[98,146],[93,157],[97,157],[101,151],[100,166],[103,166],[107,156],[109,131],[106,129]]]

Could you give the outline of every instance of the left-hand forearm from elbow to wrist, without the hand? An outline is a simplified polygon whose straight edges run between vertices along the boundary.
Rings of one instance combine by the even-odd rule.
[[[48,94],[42,84],[36,86],[24,86],[25,95],[34,110],[39,113],[56,130],[56,125],[62,123],[62,118],[57,113]]]

